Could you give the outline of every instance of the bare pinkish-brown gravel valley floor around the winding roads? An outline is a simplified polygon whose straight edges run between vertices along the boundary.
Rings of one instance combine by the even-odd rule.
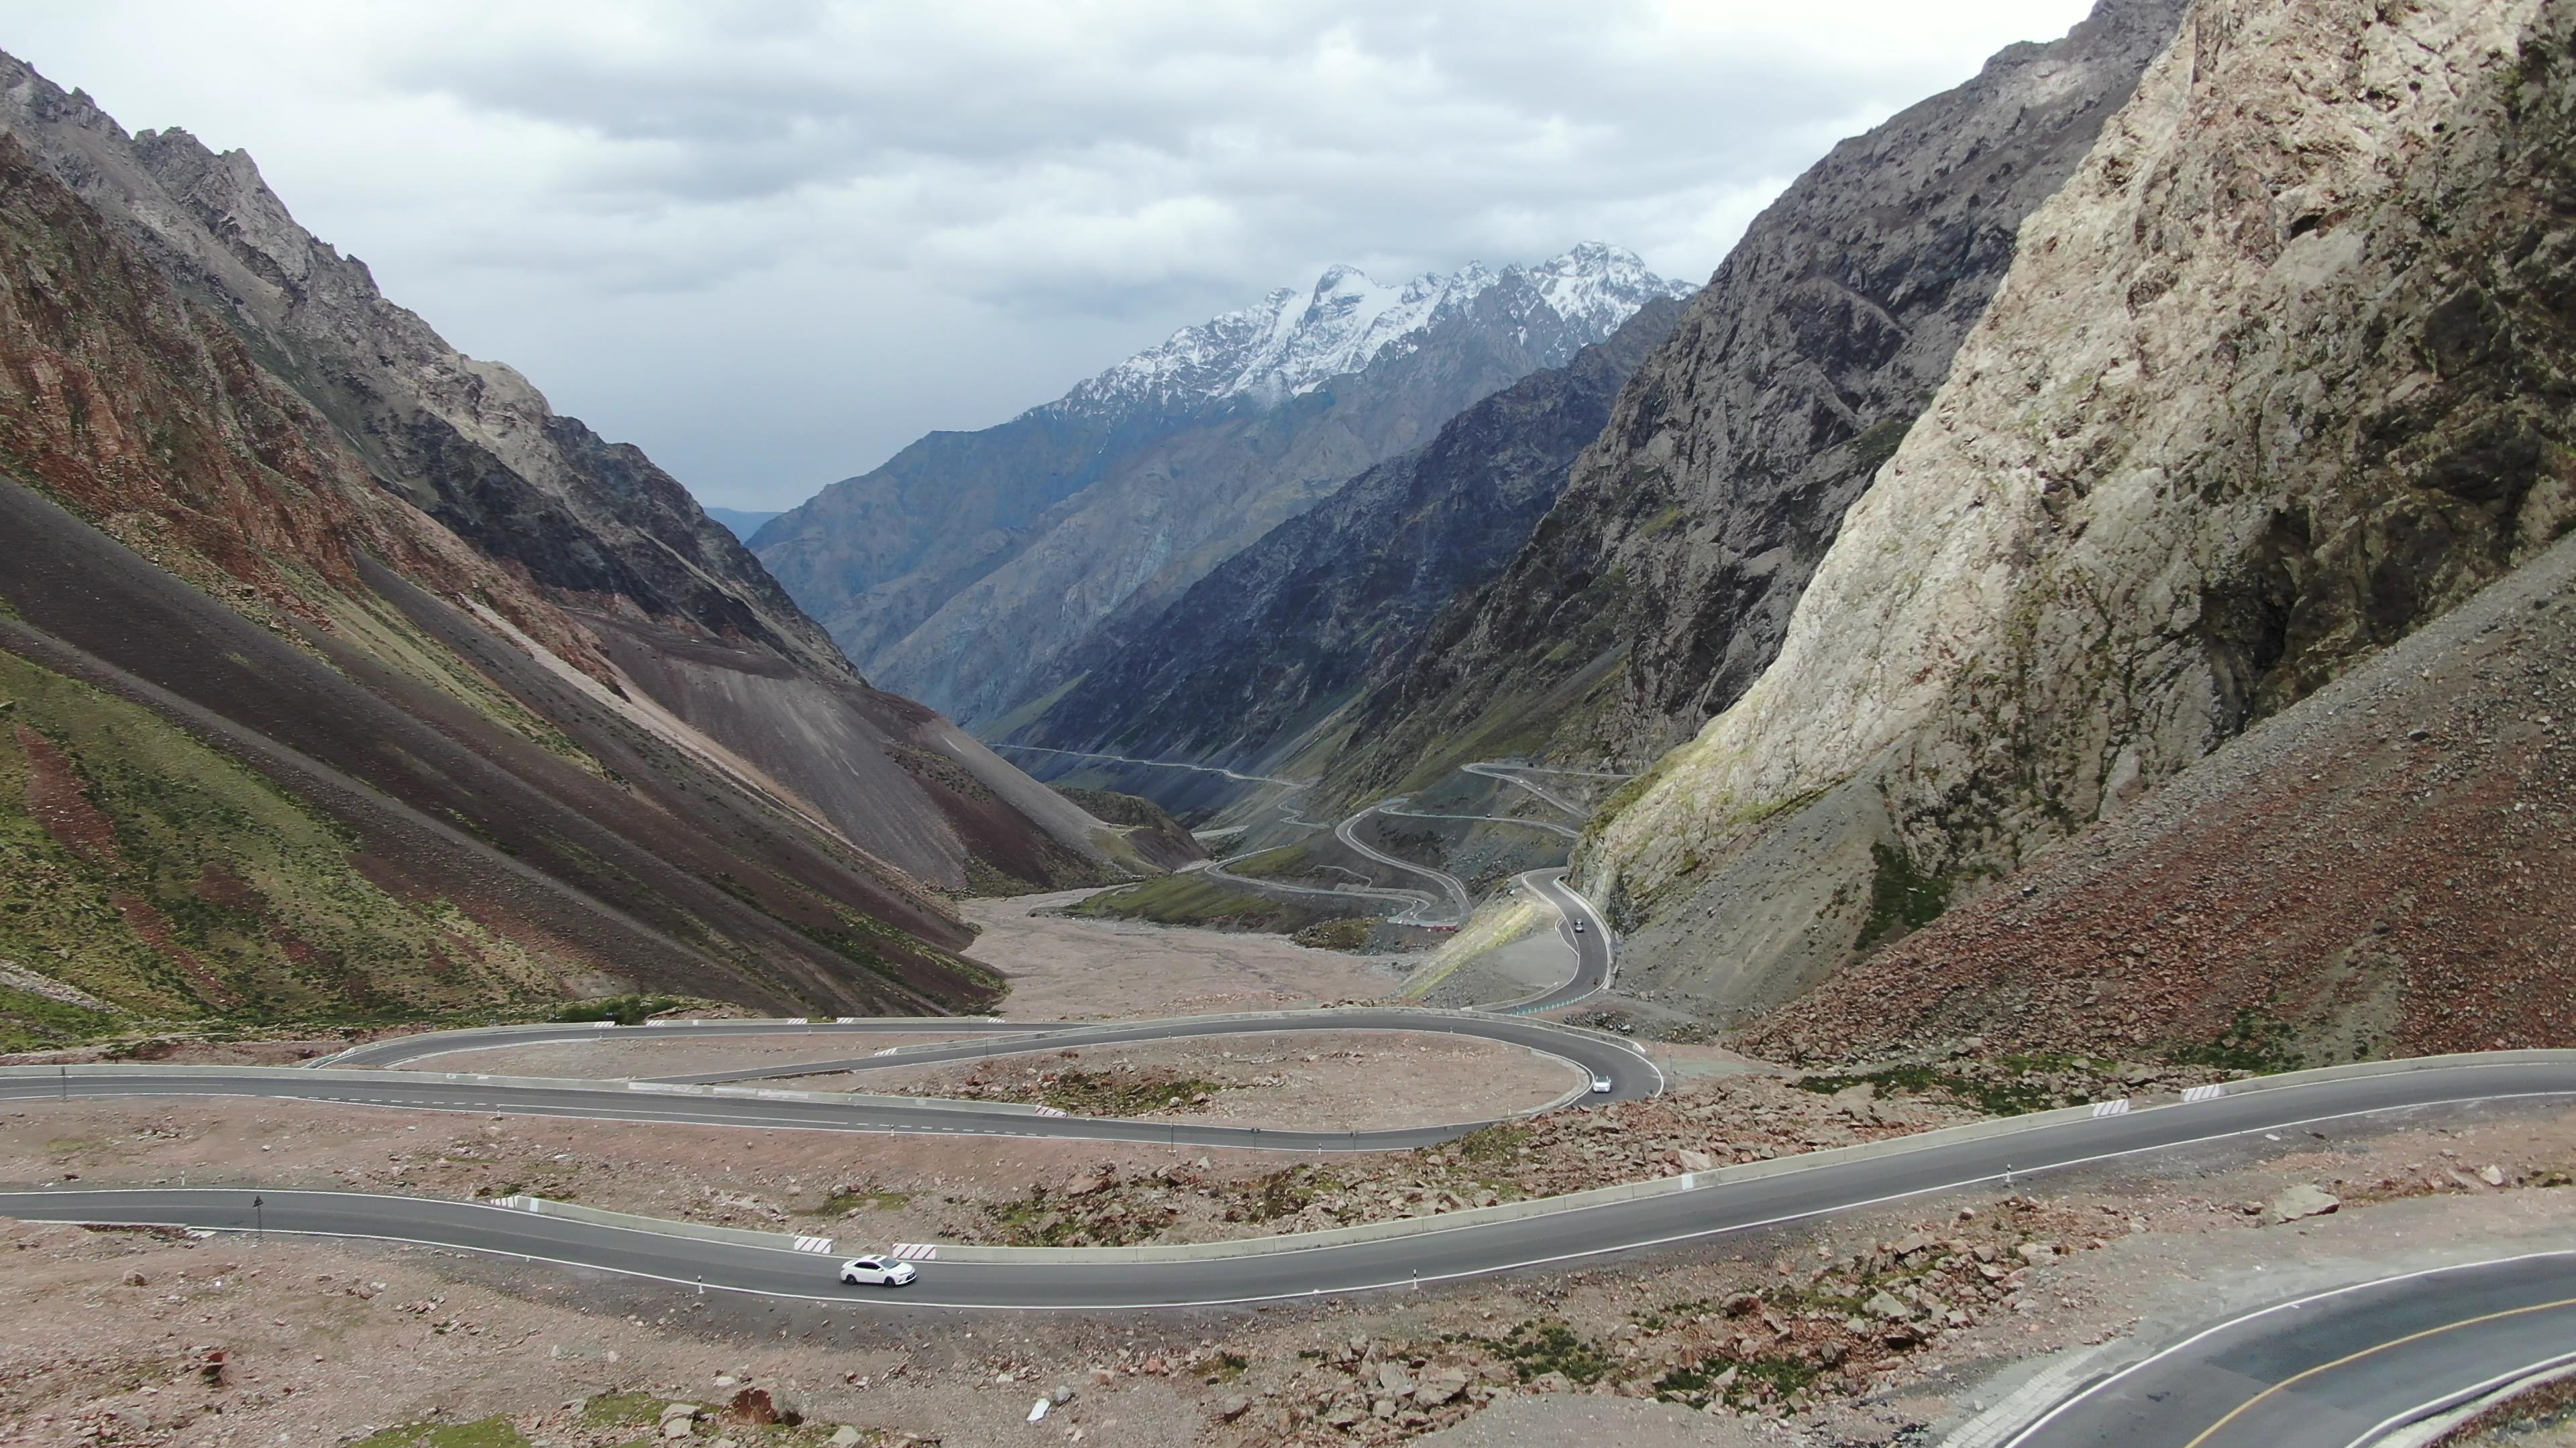
[[[1394,984],[1378,961],[1275,938],[1041,915],[1056,899],[974,907],[987,925],[979,953],[1028,992],[1012,1013],[1278,1007]],[[935,1023],[922,1036],[938,1036]],[[1672,1087],[1662,1098],[1324,1162],[286,1100],[18,1100],[0,1113],[0,1183],[533,1193],[829,1234],[848,1250],[1190,1242],[1425,1216],[2197,1080],[2105,1062],[1994,1077],[1991,1064],[1958,1059],[1801,1082],[1708,1046],[1649,1049]],[[616,1041],[479,1051],[466,1064],[667,1074],[799,1054],[811,1043],[672,1041],[644,1059]],[[1435,1121],[1538,1105],[1566,1087],[1558,1067],[1486,1043],[1360,1033],[1095,1046],[902,1074],[920,1080],[850,1085],[1015,1100],[1077,1092],[1064,1100],[1247,1121],[1363,1105]],[[2120,1350],[2393,1262],[2563,1244],[2576,1193],[2548,1188],[2568,1180],[2576,1110],[2411,1113],[1582,1270],[1118,1317],[930,1314],[899,1299],[781,1304],[420,1247],[0,1224],[10,1262],[0,1273],[0,1438],[623,1448],[659,1440],[662,1404],[685,1402],[706,1409],[688,1440],[734,1448],[817,1448],[840,1425],[858,1443],[948,1448],[1929,1443],[2056,1353]],[[2342,1206],[2282,1221],[2267,1203],[2293,1185]],[[209,1376],[216,1350],[222,1373]],[[724,1417],[744,1389],[806,1425]],[[1054,1407],[1033,1427],[1038,1396]]]

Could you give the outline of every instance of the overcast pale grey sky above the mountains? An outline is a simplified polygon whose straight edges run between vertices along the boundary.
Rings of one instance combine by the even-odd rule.
[[[0,0],[0,49],[250,149],[451,343],[786,508],[1334,260],[1703,281],[1834,139],[2084,10]]]

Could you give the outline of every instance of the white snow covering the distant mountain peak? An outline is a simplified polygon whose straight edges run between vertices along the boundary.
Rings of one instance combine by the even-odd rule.
[[[1687,296],[1625,247],[1582,242],[1533,265],[1468,263],[1401,286],[1355,265],[1329,265],[1311,289],[1278,289],[1252,307],[1172,332],[1069,392],[1051,407],[1126,410],[1221,397],[1283,399],[1350,376],[1504,281],[1520,281],[1571,338],[1597,343],[1656,296]]]

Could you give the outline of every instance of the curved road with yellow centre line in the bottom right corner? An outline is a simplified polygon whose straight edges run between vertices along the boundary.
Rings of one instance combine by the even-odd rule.
[[[2264,1306],[2066,1399],[2009,1448],[2357,1448],[2576,1358],[2576,1252]]]

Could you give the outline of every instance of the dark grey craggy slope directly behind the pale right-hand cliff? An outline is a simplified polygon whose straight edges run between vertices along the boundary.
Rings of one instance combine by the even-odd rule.
[[[1360,711],[1342,799],[1461,760],[1643,768],[1780,649],[1842,513],[1984,314],[2184,0],[2102,0],[2053,44],[1837,144],[1754,219],[1638,368],[1564,497]]]

